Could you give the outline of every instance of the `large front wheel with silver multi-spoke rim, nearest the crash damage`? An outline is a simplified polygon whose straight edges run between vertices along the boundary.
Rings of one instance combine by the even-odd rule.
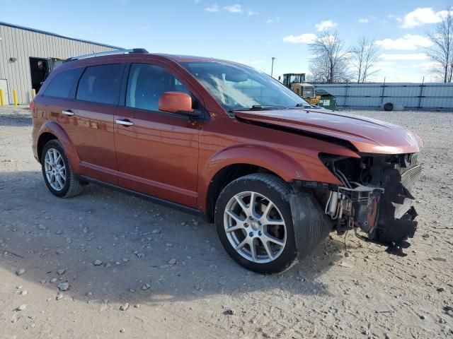
[[[260,219],[251,219],[244,212],[245,210],[241,209],[241,204],[235,198],[241,199],[243,206],[248,205],[246,210],[251,213],[252,192],[256,199],[253,206],[258,208],[258,211],[254,210],[256,217],[259,217],[260,213],[264,212],[263,210],[267,210],[270,202],[275,206],[275,208],[270,207],[269,212],[265,215],[266,219],[263,218],[264,213]],[[292,266],[297,258],[298,251],[294,237],[289,195],[288,184],[271,174],[249,174],[234,180],[222,190],[215,206],[214,220],[222,246],[236,263],[248,270],[263,274],[279,273]],[[246,203],[246,201],[248,202]],[[234,217],[231,217],[231,213],[234,214]],[[239,215],[241,218],[237,218]],[[252,221],[247,222],[250,219]],[[265,220],[268,220],[268,222],[280,222],[282,220],[284,225],[264,225]],[[233,227],[239,228],[234,231],[226,231],[233,229]],[[283,232],[284,229],[285,232]],[[253,237],[250,236],[251,233],[253,233]],[[268,249],[265,249],[264,242],[261,239],[273,239],[267,241]],[[285,242],[285,245],[280,246],[280,244],[273,242],[275,240],[280,243]],[[234,245],[241,246],[244,241],[251,241],[254,244],[255,257],[253,257],[249,243],[236,251]],[[253,258],[256,260],[253,261]]]

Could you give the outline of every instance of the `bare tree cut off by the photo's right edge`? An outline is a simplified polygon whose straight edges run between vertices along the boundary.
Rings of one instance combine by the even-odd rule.
[[[432,73],[444,83],[451,83],[453,76],[453,16],[452,8],[447,8],[442,21],[435,30],[426,33],[432,42],[428,55],[434,62]]]

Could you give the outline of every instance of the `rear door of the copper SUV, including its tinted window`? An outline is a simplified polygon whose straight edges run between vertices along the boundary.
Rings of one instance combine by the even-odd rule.
[[[79,156],[80,174],[117,184],[113,118],[124,64],[88,66],[67,100],[64,129]]]

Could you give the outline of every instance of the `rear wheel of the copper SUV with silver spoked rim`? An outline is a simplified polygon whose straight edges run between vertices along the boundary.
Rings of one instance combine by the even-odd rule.
[[[56,156],[58,165],[55,166],[51,165],[53,158],[52,155],[50,155],[50,158],[47,157],[48,151],[50,151],[50,153],[52,153],[53,155],[56,154],[61,157],[60,158]],[[40,160],[42,176],[44,177],[47,189],[49,189],[49,191],[51,191],[52,194],[54,194],[55,196],[59,196],[60,198],[69,198],[71,196],[81,194],[83,186],[81,185],[81,182],[74,176],[74,172],[72,172],[71,165],[69,164],[69,160],[67,157],[67,153],[64,150],[62,143],[60,143],[57,139],[53,139],[47,142],[44,148],[42,149]],[[53,177],[51,174],[50,179],[47,177],[46,174],[46,171],[49,170],[56,172],[56,174],[52,173]],[[58,176],[60,179],[59,181],[57,181]]]

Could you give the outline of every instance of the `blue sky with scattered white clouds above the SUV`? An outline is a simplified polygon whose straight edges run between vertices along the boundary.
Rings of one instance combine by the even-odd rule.
[[[241,62],[273,75],[308,73],[308,43],[336,30],[381,49],[374,81],[425,82],[426,32],[453,0],[0,0],[0,21],[118,47]],[[49,56],[55,57],[55,56]]]

